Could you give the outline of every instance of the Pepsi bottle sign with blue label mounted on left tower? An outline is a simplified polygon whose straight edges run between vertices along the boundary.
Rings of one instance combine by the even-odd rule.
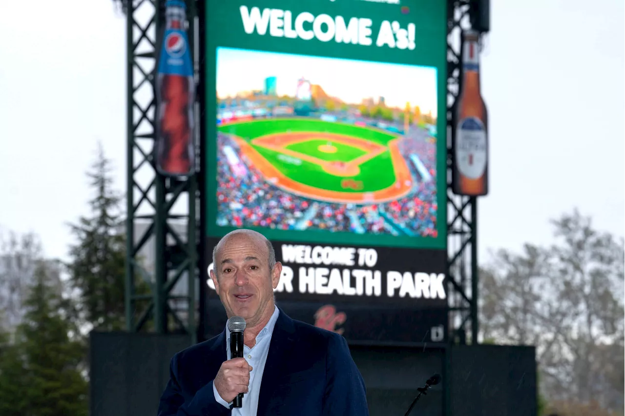
[[[156,73],[156,170],[184,177],[194,171],[195,81],[182,0],[165,3],[166,25]]]

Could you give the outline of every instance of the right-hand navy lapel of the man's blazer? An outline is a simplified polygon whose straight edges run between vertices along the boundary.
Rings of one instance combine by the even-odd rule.
[[[279,309],[279,308],[278,308]],[[289,318],[282,309],[279,309],[279,315],[271,335],[271,343],[269,344],[269,352],[267,353],[267,362],[262,372],[261,391],[258,397],[257,416],[267,414],[267,408],[271,403],[276,382],[284,369],[288,365],[288,359],[291,354],[292,343],[294,342],[295,327],[293,320]]]

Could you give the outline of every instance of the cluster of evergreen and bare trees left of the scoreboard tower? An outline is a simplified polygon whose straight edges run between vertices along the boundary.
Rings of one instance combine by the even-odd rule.
[[[68,261],[46,259],[36,234],[0,234],[0,416],[89,414],[89,330],[125,328],[122,197],[111,171],[99,147],[89,214],[68,224]]]

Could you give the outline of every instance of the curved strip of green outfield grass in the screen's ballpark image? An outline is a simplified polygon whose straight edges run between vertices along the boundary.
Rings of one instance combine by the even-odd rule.
[[[321,121],[307,118],[264,119],[244,121],[224,126],[217,126],[217,131],[234,134],[243,139],[255,139],[266,134],[286,133],[287,131],[318,131],[346,136],[360,137],[375,143],[387,144],[397,137],[396,134],[381,130],[359,127],[352,124],[342,124],[330,121]]]

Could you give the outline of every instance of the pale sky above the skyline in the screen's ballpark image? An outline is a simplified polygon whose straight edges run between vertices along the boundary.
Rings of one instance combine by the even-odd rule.
[[[294,97],[302,77],[346,104],[384,97],[388,107],[406,102],[437,117],[437,71],[434,67],[304,56],[246,49],[217,48],[217,97],[262,90],[276,77],[278,96]]]

